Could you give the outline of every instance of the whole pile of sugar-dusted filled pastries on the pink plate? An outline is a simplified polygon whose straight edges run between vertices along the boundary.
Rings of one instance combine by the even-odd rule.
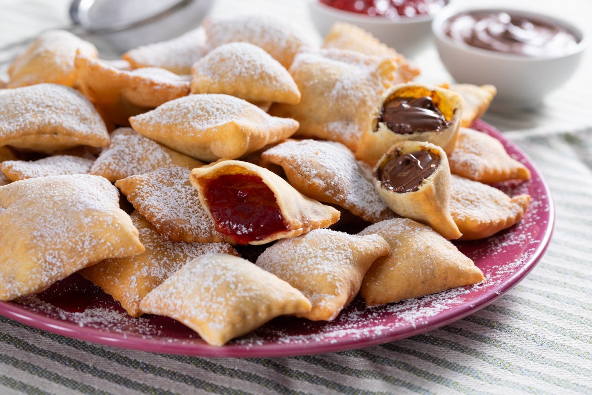
[[[41,34],[0,89],[0,300],[79,272],[219,346],[280,315],[333,320],[358,294],[484,281],[450,240],[529,204],[490,185],[528,169],[469,129],[495,88],[414,82],[353,25],[306,37],[210,18],[104,60]]]

